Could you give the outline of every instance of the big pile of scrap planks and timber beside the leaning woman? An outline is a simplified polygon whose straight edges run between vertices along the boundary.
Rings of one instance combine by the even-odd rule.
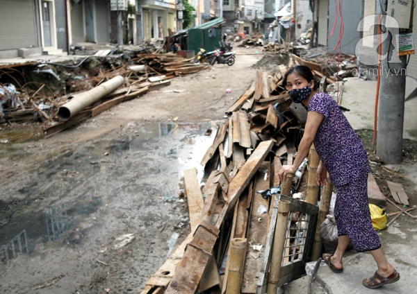
[[[317,234],[317,196],[307,191],[307,202],[286,197],[302,189],[304,177],[289,176],[282,184],[278,177],[281,165],[293,162],[307,114],[291,104],[281,85],[286,67],[280,69],[256,71],[254,83],[227,110],[200,162],[209,174],[204,188],[195,169],[184,171],[191,233],[142,294],[277,293],[279,285],[304,275]]]

